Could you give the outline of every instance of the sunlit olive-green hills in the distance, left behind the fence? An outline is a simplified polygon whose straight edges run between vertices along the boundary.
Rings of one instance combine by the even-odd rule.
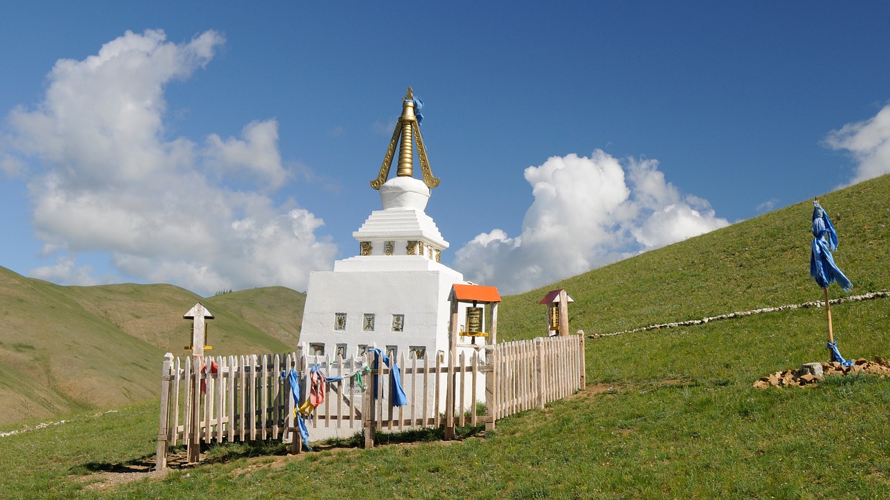
[[[158,396],[166,351],[187,354],[202,302],[214,355],[295,349],[305,294],[257,288],[203,298],[178,286],[58,286],[0,267],[0,424]]]

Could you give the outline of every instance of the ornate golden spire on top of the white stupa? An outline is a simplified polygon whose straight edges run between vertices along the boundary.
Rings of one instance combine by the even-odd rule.
[[[439,179],[433,177],[433,171],[430,170],[430,162],[426,158],[424,139],[420,135],[420,124],[417,123],[417,117],[414,114],[414,102],[414,91],[411,90],[411,87],[408,87],[408,93],[401,100],[401,117],[399,117],[399,123],[395,125],[395,130],[392,132],[392,139],[390,140],[389,148],[386,149],[384,163],[380,165],[380,173],[377,175],[377,178],[371,181],[371,187],[375,190],[379,190],[389,176],[396,142],[399,142],[399,164],[396,169],[396,175],[399,177],[414,176],[414,137],[417,137],[417,157],[420,159],[420,170],[424,174],[424,184],[430,189],[439,185]],[[401,141],[399,141],[400,137]]]

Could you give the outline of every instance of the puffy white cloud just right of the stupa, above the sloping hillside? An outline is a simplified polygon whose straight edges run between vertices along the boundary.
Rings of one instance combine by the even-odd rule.
[[[511,238],[495,229],[457,251],[465,278],[521,293],[729,225],[684,195],[651,159],[551,157],[525,169],[534,201]]]

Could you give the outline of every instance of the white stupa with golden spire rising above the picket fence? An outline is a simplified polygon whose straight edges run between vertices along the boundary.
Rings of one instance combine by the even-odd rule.
[[[383,210],[352,233],[359,255],[309,278],[300,334],[307,354],[346,358],[363,354],[372,343],[399,359],[402,353],[406,359],[424,359],[448,351],[449,293],[452,285],[465,281],[440,262],[449,243],[424,212],[439,179],[430,171],[415,117],[419,101],[410,87],[402,102],[384,164],[371,181],[380,190]],[[423,181],[413,177],[414,137]],[[397,176],[387,181],[397,142]]]

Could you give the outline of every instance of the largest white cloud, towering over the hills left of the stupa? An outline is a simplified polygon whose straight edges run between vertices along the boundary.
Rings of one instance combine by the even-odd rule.
[[[270,193],[290,181],[278,122],[254,121],[240,137],[202,144],[167,138],[165,85],[214,57],[223,36],[188,43],[160,30],[126,32],[85,60],[59,60],[44,101],[19,107],[0,139],[4,171],[28,179],[36,235],[57,263],[31,274],[85,284],[78,253],[100,252],[125,278],[209,294],[284,285],[305,289],[336,247],[323,222]]]

